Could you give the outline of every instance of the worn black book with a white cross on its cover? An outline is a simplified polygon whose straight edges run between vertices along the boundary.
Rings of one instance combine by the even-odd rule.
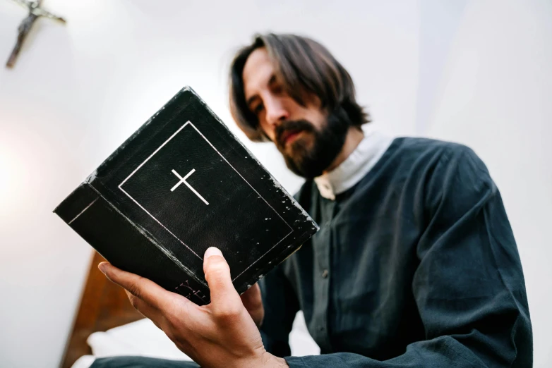
[[[318,231],[190,87],[54,212],[114,266],[198,305],[210,301],[208,247],[222,250],[243,293]]]

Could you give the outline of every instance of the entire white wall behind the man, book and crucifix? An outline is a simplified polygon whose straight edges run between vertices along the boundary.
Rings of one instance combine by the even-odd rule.
[[[16,68],[0,69],[0,366],[54,367],[61,359],[90,247],[52,209],[184,85],[234,128],[229,59],[266,30],[323,42],[352,73],[381,130],[459,140],[484,157],[522,254],[535,367],[552,362],[552,251],[543,230],[552,220],[544,146],[550,5],[296,3],[45,1],[68,24],[40,20]],[[24,16],[0,3],[0,56],[7,58]],[[273,147],[246,143],[288,190],[298,188]]]

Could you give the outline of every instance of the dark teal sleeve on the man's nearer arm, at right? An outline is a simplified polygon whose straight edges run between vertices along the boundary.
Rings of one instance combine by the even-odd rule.
[[[522,266],[496,185],[463,146],[428,177],[416,191],[426,228],[412,282],[425,340],[390,360],[341,352],[286,357],[290,367],[532,367]]]

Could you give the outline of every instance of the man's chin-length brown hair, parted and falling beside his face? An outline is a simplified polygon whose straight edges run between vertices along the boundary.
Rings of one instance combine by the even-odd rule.
[[[352,125],[360,126],[370,121],[368,114],[356,103],[351,76],[328,49],[307,37],[268,33],[253,37],[253,42],[234,56],[230,68],[230,111],[250,140],[267,140],[257,117],[248,109],[242,79],[249,55],[260,47],[267,49],[277,78],[297,103],[304,106],[305,96],[314,94],[320,99],[322,109],[343,109]]]

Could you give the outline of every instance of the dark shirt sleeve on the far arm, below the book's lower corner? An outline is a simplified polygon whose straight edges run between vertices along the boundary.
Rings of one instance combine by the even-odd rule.
[[[282,264],[266,274],[259,286],[265,308],[265,319],[259,330],[265,349],[277,357],[290,355],[289,333],[299,311],[299,302],[282,272]]]

